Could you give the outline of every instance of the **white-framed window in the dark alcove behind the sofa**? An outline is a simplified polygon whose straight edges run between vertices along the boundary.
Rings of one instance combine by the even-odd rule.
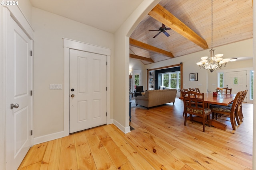
[[[162,86],[180,88],[180,72],[162,73]]]

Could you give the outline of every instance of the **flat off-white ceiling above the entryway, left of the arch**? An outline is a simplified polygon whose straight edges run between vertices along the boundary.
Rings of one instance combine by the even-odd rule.
[[[143,0],[30,0],[33,7],[114,33]]]

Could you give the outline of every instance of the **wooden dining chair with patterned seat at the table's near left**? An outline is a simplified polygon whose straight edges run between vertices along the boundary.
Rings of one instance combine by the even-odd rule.
[[[204,93],[198,93],[195,91],[184,92],[184,107],[185,109],[185,121],[184,125],[187,123],[187,114],[190,114],[190,118],[192,115],[196,115],[202,117],[203,123],[203,132],[205,132],[205,123],[208,122],[208,125],[211,126],[211,109],[205,107],[204,103]]]

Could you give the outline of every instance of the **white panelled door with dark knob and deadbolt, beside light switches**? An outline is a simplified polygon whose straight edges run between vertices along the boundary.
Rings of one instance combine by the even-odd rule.
[[[107,123],[106,56],[70,49],[70,133]]]

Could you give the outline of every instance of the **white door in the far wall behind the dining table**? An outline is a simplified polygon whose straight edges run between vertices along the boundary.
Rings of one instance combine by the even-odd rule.
[[[232,88],[232,94],[237,94],[240,91],[247,89],[247,74],[246,71],[226,72],[226,86]],[[247,99],[244,99],[247,102]]]

